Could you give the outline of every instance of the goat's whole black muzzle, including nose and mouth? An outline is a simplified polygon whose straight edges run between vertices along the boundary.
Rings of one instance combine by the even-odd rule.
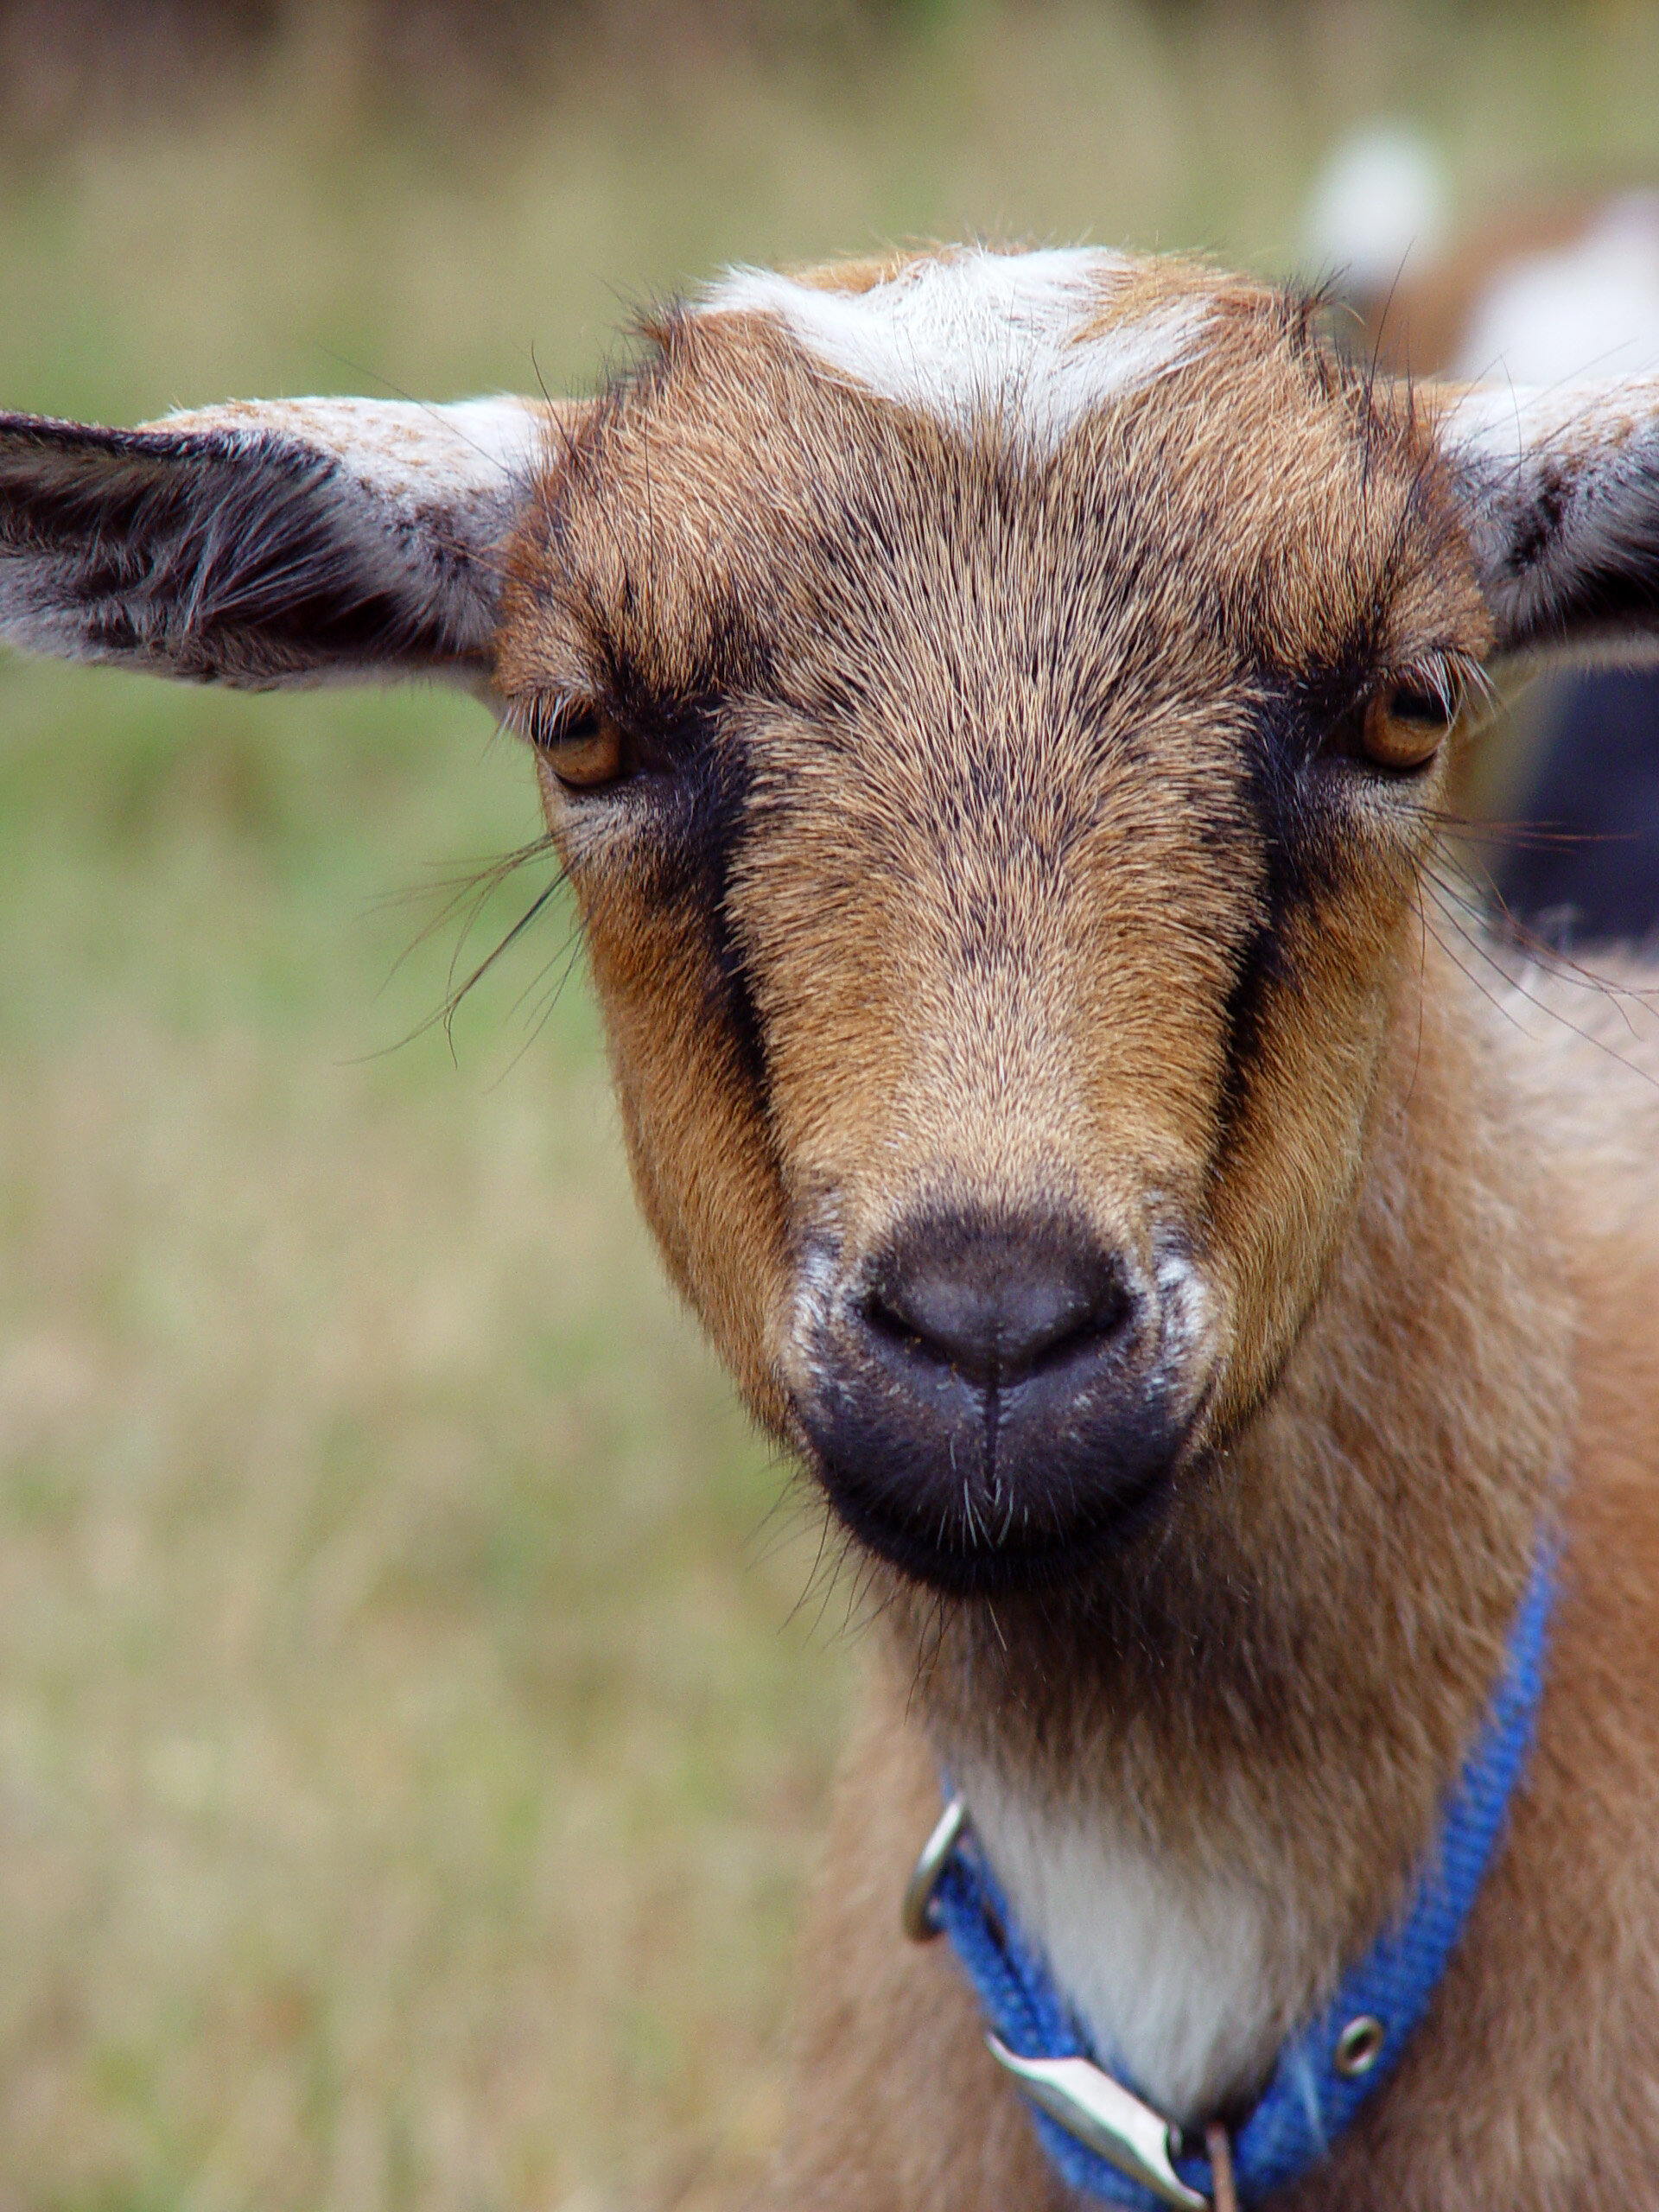
[[[818,1312],[799,1398],[818,1478],[918,1582],[1053,1582],[1175,1464],[1157,1279],[1077,1212],[911,1214]]]

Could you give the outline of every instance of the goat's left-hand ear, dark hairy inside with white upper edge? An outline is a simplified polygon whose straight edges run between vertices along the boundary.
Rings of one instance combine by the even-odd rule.
[[[268,688],[487,677],[529,400],[270,400],[91,429],[0,414],[0,639]]]

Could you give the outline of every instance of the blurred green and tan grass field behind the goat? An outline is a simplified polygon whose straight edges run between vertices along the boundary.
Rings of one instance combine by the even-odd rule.
[[[1467,199],[1646,170],[1659,38],[967,7],[551,80],[462,137],[312,40],[35,153],[0,398],[586,387],[633,301],[887,237],[1290,265],[1374,111]],[[438,885],[533,832],[445,695],[0,664],[4,2212],[703,2203],[781,2124],[845,1601],[635,1223],[568,909],[422,1026]]]

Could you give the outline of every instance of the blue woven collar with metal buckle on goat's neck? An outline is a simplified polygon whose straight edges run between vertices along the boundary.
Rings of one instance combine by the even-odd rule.
[[[1436,1993],[1533,1745],[1553,1597],[1555,1548],[1546,1544],[1486,1725],[1447,1801],[1433,1863],[1400,1920],[1281,2048],[1261,2101],[1232,2135],[1241,2203],[1261,2203],[1325,2157],[1387,2079]],[[918,1860],[905,1927],[918,1938],[945,1931],[956,1944],[991,2024],[991,2051],[1031,2099],[1042,2146],[1068,2188],[1133,2212],[1199,2212],[1212,2203],[1208,2154],[1183,2143],[1181,2130],[1079,2035],[1044,1960],[1013,1924],[960,1798],[947,1805]]]

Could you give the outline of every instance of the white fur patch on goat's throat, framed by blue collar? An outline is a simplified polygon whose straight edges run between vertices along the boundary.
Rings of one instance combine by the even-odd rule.
[[[1281,2037],[1283,1911],[984,1774],[958,1778],[1022,1933],[1102,2059],[1183,2126],[1254,2088]]]

